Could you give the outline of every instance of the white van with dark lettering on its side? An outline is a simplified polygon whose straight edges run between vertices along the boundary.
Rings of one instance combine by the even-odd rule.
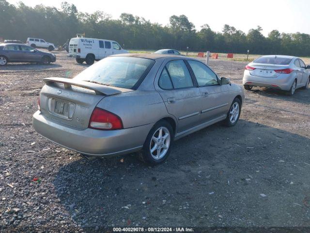
[[[128,53],[115,41],[93,38],[72,38],[69,42],[69,56],[76,57],[76,61],[82,64],[84,61],[92,65],[94,61],[113,54]]]

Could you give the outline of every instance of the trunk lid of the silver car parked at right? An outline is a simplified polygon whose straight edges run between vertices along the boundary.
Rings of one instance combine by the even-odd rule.
[[[289,68],[289,65],[273,65],[273,64],[252,64],[250,67],[255,69],[250,70],[250,74],[253,76],[259,76],[263,78],[277,78],[280,73],[275,70]]]

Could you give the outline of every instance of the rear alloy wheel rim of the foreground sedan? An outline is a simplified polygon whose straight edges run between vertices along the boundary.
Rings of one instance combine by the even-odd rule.
[[[150,143],[150,153],[155,160],[165,156],[169,150],[170,141],[170,132],[166,127],[162,126],[155,131]]]

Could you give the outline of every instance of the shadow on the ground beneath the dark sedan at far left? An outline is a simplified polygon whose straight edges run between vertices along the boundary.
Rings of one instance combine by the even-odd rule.
[[[33,64],[33,63],[8,63],[6,66],[0,67],[0,71],[35,71],[35,70],[45,70],[45,69],[51,69],[51,68],[59,68],[62,67],[62,65],[59,64],[49,64],[49,65],[43,65],[43,64]]]

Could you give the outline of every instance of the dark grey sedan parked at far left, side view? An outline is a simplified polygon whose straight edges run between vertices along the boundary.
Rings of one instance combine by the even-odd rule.
[[[9,62],[30,62],[48,65],[55,61],[55,54],[36,50],[28,45],[0,44],[0,66],[4,66]]]

